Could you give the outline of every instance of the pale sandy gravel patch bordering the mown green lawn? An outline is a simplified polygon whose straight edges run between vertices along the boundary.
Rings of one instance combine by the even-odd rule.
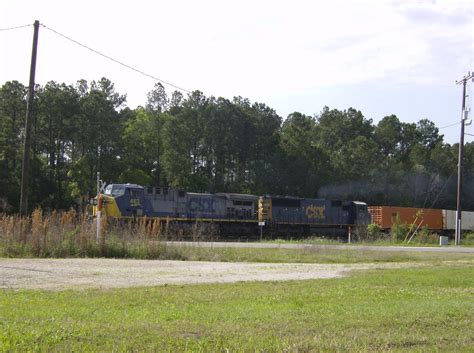
[[[86,289],[334,278],[413,264],[269,264],[117,259],[0,259],[2,289]]]

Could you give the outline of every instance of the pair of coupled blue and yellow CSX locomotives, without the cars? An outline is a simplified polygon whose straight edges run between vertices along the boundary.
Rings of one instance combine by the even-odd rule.
[[[100,195],[102,214],[118,219],[166,218],[175,223],[212,222],[221,235],[258,233],[304,236],[347,234],[350,227],[370,223],[367,205],[296,197],[272,197],[237,193],[193,193],[173,188],[110,184]],[[94,214],[97,207],[94,207]],[[239,234],[241,235],[241,234]]]

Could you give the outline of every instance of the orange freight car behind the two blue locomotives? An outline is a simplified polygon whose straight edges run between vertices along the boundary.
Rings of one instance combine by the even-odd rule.
[[[397,215],[400,221],[406,224],[415,224],[416,227],[427,226],[432,230],[443,229],[443,211],[432,208],[411,208],[393,206],[370,206],[369,213],[372,223],[383,229],[390,229]]]

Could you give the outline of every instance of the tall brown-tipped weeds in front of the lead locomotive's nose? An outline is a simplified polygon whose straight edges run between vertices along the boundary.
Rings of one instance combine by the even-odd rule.
[[[96,220],[73,209],[30,217],[0,215],[0,256],[173,258],[182,255],[162,240],[213,240],[212,225],[177,227],[167,219]]]

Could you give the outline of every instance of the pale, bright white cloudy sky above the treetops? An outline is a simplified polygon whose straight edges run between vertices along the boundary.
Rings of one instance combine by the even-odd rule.
[[[473,19],[471,0],[0,0],[0,29],[46,26],[42,85],[106,77],[135,108],[156,83],[53,29],[188,91],[246,97],[283,118],[324,106],[356,108],[375,124],[391,114],[409,123],[427,118],[448,143],[460,137],[456,81],[474,70]],[[0,31],[0,85],[28,83],[32,35],[32,26]],[[466,132],[474,135],[474,123]]]

